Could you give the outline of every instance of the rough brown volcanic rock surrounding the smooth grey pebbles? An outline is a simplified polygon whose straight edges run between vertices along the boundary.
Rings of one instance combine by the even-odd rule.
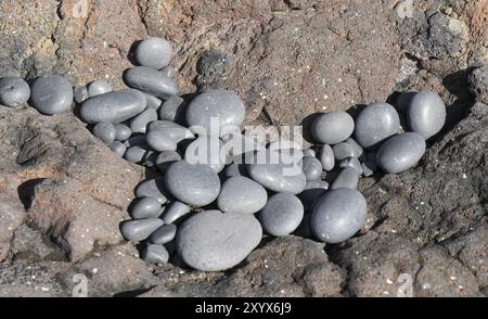
[[[151,35],[172,41],[183,93],[235,90],[247,124],[309,123],[422,89],[448,117],[418,167],[361,180],[368,225],[354,239],[267,238],[237,267],[204,273],[151,268],[123,243],[142,168],[69,112],[0,106],[0,295],[72,295],[78,273],[93,296],[487,295],[488,105],[473,75],[488,64],[487,18],[488,0],[1,1],[1,76],[123,88],[132,43]]]

